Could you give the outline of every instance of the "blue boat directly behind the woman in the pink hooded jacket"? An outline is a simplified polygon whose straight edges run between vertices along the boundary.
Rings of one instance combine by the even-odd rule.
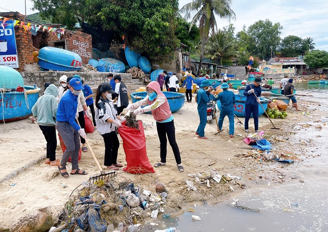
[[[185,102],[185,94],[167,91],[164,91],[163,94],[167,97],[172,112],[176,112],[182,108],[183,103]],[[135,92],[131,93],[130,96],[132,103],[135,103],[141,99],[144,99],[147,96],[147,92]]]

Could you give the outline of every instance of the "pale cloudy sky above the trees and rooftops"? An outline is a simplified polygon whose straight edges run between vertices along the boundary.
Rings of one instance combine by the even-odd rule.
[[[179,0],[180,8],[192,0]],[[0,0],[0,12],[18,11],[25,13],[25,0]],[[27,14],[33,14],[33,4],[26,0]],[[4,9],[6,10],[4,10]],[[235,33],[246,29],[258,20],[279,22],[284,29],[281,38],[295,35],[314,39],[315,49],[328,51],[328,1],[327,0],[232,0],[231,9],[236,14]],[[227,20],[217,18],[217,27],[228,26]]]

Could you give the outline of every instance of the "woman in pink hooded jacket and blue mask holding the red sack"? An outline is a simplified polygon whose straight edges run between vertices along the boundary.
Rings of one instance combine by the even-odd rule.
[[[151,111],[151,114],[156,121],[157,134],[160,147],[160,162],[154,166],[159,167],[166,165],[167,158],[167,137],[172,147],[174,157],[180,172],[184,171],[181,163],[181,156],[178,144],[176,142],[176,129],[174,119],[170,110],[170,105],[166,96],[160,91],[159,83],[156,81],[150,82],[146,87],[147,96],[140,101],[129,104],[127,110],[131,109],[134,114],[140,114]],[[141,106],[145,106],[141,108]]]

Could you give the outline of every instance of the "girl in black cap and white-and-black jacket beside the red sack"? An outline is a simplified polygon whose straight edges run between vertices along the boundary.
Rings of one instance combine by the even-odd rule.
[[[98,86],[96,93],[95,121],[99,135],[105,143],[104,165],[107,169],[119,170],[122,163],[117,162],[120,141],[116,130],[122,127],[121,120],[124,118],[117,115],[117,110],[112,101],[113,90],[111,84],[102,83]]]

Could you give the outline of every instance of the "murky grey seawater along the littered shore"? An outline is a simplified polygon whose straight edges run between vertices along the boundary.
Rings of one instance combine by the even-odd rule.
[[[299,104],[306,100],[313,102],[310,105],[312,108],[328,109],[328,85],[294,85],[298,94],[312,95],[298,96]],[[311,119],[304,117],[306,121],[311,122]],[[300,127],[299,133],[290,137],[290,141],[297,144],[300,139],[312,139],[316,145],[309,148],[308,154],[320,156],[304,159],[301,163],[287,164],[285,168],[289,170],[284,171],[287,174],[285,179],[291,180],[293,177],[293,181],[281,186],[276,184],[263,189],[245,190],[237,196],[238,205],[258,208],[259,212],[230,207],[228,205],[233,202],[231,199],[216,205],[192,207],[195,212],[187,211],[178,217],[163,219],[163,222],[182,232],[328,231],[328,126],[323,126],[321,131],[314,127],[306,130]],[[277,174],[272,172],[271,177],[277,178]],[[192,215],[200,216],[201,220],[192,220]]]

